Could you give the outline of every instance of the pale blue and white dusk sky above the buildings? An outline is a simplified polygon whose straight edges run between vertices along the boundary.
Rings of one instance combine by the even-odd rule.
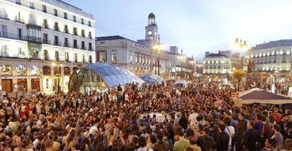
[[[236,37],[248,47],[292,39],[291,0],[63,0],[95,16],[96,36],[145,38],[147,16],[154,13],[160,39],[187,56],[232,50]],[[168,48],[169,49],[169,48]]]

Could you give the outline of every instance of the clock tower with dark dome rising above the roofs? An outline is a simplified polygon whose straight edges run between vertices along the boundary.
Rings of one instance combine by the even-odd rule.
[[[145,40],[150,40],[151,43],[158,42],[158,27],[154,13],[148,16],[148,25],[145,27]]]

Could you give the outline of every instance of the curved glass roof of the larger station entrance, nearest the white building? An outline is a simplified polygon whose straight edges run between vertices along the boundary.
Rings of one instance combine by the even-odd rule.
[[[73,75],[71,75],[73,77]],[[78,83],[82,82],[104,82],[107,87],[126,85],[127,83],[139,83],[144,81],[126,68],[113,66],[111,64],[90,64],[77,71]]]

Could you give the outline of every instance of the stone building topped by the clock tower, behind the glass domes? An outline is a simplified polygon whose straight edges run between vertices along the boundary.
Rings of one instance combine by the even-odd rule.
[[[122,66],[138,76],[144,73],[158,74],[159,70],[162,78],[166,80],[170,78],[169,53],[161,50],[157,54],[153,50],[153,46],[159,42],[158,27],[153,13],[148,16],[145,40],[135,42],[116,35],[96,37],[95,42],[98,63]]]

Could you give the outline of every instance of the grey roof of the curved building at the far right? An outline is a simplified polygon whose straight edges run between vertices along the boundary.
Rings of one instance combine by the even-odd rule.
[[[276,40],[272,42],[267,42],[263,44],[257,44],[255,47],[252,47],[250,50],[260,50],[260,49],[267,49],[272,47],[285,47],[285,46],[292,46],[292,40]]]

